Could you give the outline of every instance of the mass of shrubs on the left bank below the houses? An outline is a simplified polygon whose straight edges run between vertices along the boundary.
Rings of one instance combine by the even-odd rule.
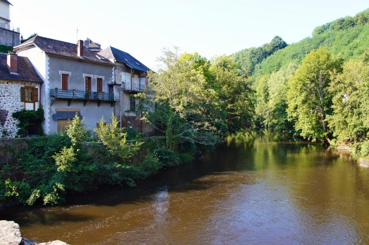
[[[68,191],[86,191],[103,184],[135,185],[161,168],[188,162],[192,153],[167,150],[165,137],[126,142],[117,121],[102,120],[95,129],[97,142],[77,116],[66,132],[27,140],[23,152],[9,148],[0,156],[0,204],[14,201],[32,205],[65,201]],[[179,156],[179,157],[178,157]]]

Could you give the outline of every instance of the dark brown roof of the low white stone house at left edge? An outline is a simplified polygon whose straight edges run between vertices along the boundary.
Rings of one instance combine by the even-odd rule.
[[[17,69],[19,75],[11,74],[7,65],[7,55],[0,53],[0,79],[42,82],[27,57],[18,56]]]

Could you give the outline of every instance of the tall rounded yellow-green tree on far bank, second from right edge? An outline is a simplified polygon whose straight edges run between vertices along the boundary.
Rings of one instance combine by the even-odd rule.
[[[288,115],[296,120],[295,129],[305,138],[324,139],[329,128],[326,115],[331,114],[331,73],[340,71],[342,59],[335,59],[324,47],[311,51],[289,81]]]

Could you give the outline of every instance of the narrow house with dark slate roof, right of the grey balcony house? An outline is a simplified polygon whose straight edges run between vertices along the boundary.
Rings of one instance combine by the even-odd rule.
[[[98,54],[116,65],[115,83],[121,86],[121,101],[120,104],[116,104],[115,115],[117,118],[121,118],[122,127],[127,128],[132,125],[139,132],[151,134],[153,129],[148,123],[142,121],[140,116],[127,112],[134,109],[136,105],[136,101],[130,95],[147,92],[149,85],[147,72],[150,69],[130,54],[112,46],[105,48]]]

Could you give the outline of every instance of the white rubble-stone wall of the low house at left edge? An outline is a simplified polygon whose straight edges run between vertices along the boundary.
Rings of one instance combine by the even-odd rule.
[[[0,80],[0,138],[14,138],[17,135],[18,120],[12,114],[24,108],[21,87],[25,85],[39,86],[40,83]]]

